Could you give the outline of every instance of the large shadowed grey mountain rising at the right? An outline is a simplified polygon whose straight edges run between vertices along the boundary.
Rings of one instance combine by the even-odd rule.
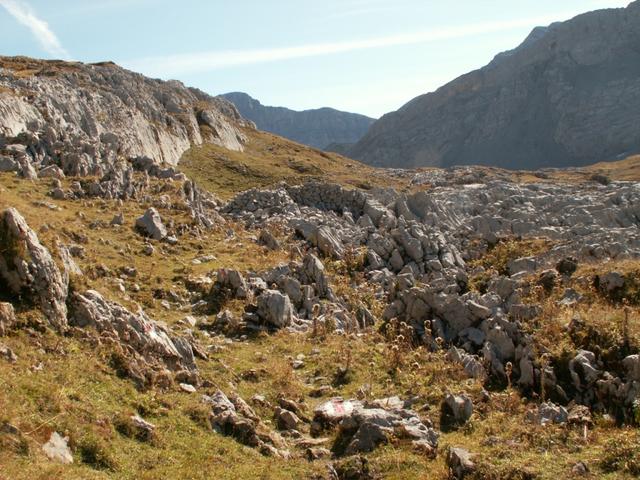
[[[382,117],[350,150],[381,166],[584,165],[640,151],[640,2],[537,28]]]

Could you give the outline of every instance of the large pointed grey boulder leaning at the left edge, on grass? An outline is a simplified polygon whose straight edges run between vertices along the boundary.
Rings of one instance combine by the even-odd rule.
[[[14,295],[33,298],[57,330],[67,326],[68,278],[20,213],[0,217],[0,278]]]

